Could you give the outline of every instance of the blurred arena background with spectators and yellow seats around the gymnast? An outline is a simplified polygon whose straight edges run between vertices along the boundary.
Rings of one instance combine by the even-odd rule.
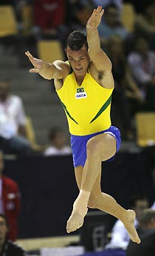
[[[66,116],[53,81],[30,74],[24,54],[65,61],[66,37],[73,30],[86,33],[97,5],[105,9],[101,47],[113,64],[111,121],[122,135],[114,162],[103,163],[101,186],[125,209],[135,195],[155,209],[155,1],[1,0],[0,170],[1,180],[10,178],[18,188],[6,190],[0,210],[15,219],[10,238],[28,255],[117,256],[128,246],[111,246],[116,219],[98,210],[66,234],[78,192]],[[4,204],[3,188],[0,194]]]

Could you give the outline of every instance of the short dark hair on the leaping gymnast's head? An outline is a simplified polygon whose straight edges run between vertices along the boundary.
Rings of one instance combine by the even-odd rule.
[[[86,35],[81,31],[75,30],[66,38],[66,47],[69,46],[71,50],[78,51],[83,47],[83,45],[85,45],[88,50]]]

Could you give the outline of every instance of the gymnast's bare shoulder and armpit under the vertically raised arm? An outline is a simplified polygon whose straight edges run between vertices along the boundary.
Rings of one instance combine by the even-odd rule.
[[[114,88],[114,78],[111,69],[104,69],[104,65],[103,67],[100,66],[97,68],[94,66],[94,63],[91,62],[89,70],[94,80],[97,81],[97,83],[100,84],[101,87],[104,87],[106,89]]]

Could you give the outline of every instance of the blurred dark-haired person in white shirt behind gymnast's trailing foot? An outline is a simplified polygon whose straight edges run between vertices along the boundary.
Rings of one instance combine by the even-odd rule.
[[[136,212],[137,218],[135,219],[134,225],[137,227],[140,213],[148,208],[148,199],[144,195],[134,195],[131,198],[130,207],[134,212]],[[126,232],[125,226],[120,220],[117,220],[116,223],[114,223],[114,227],[111,232],[111,242],[108,243],[107,248],[126,249],[129,240],[130,237],[128,232]]]

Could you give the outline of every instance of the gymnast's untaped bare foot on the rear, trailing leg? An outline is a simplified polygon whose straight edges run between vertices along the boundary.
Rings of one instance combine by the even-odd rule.
[[[123,224],[125,226],[125,229],[128,231],[128,234],[130,235],[130,238],[135,243],[140,243],[140,238],[137,234],[137,231],[134,227],[134,220],[136,218],[136,214],[133,210],[128,210],[127,215],[125,216],[123,221]]]

